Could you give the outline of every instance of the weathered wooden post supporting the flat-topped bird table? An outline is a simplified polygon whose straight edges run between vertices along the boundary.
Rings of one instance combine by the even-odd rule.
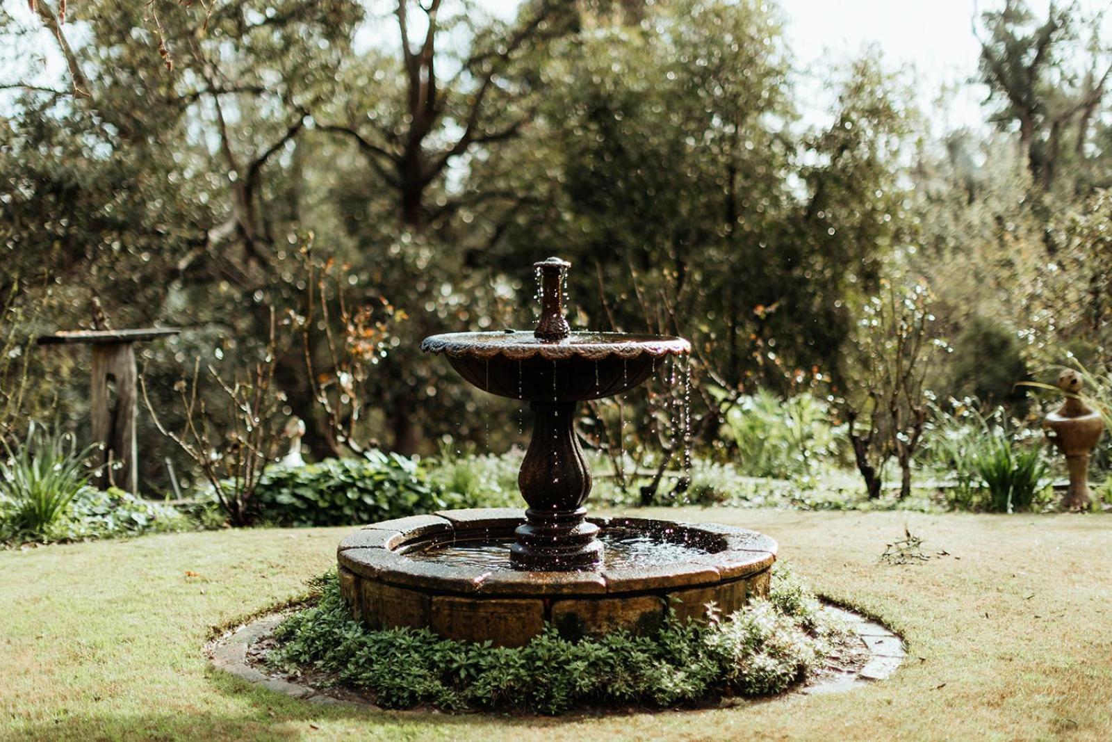
[[[135,345],[98,343],[92,346],[89,412],[92,417],[92,437],[105,445],[99,462],[105,464],[99,479],[101,488],[117,486],[131,493],[139,491],[137,379]],[[115,399],[110,398],[109,380],[116,383]],[[115,468],[117,465],[119,468]]]

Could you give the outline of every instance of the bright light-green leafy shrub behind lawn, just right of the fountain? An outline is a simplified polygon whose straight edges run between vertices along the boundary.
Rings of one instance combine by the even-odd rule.
[[[781,399],[762,389],[743,397],[726,413],[725,433],[749,476],[805,476],[838,449],[826,405],[810,394]]]

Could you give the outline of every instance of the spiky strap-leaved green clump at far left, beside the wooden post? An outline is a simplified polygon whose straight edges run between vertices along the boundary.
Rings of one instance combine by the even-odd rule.
[[[86,459],[93,446],[78,449],[70,433],[51,434],[33,422],[16,451],[3,443],[0,501],[12,534],[46,536],[88,482]]]

